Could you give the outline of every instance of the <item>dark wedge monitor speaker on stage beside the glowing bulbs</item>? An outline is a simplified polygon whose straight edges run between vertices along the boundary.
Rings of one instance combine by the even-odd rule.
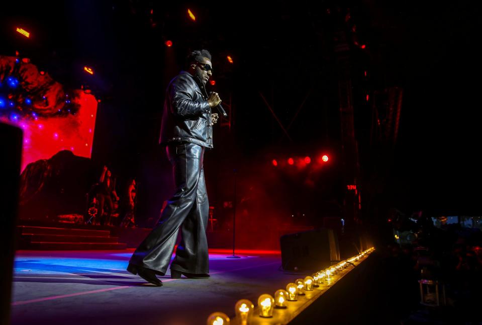
[[[333,229],[287,234],[279,240],[283,270],[316,272],[340,261],[338,238]]]

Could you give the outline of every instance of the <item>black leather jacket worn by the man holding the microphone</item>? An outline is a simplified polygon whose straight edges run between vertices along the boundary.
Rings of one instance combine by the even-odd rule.
[[[213,147],[208,94],[200,80],[181,71],[166,90],[159,143],[192,142]]]

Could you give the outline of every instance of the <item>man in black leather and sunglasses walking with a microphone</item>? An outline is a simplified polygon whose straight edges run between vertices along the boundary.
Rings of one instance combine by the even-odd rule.
[[[217,93],[208,96],[206,83],[213,74],[211,54],[198,50],[188,56],[188,69],[171,80],[166,90],[160,143],[166,145],[172,165],[175,193],[164,208],[157,226],[139,245],[127,270],[161,286],[156,277],[165,275],[179,227],[181,241],[171,263],[171,278],[209,277],[209,202],[204,180],[203,157],[213,147],[213,124],[218,114],[211,108],[221,103]]]

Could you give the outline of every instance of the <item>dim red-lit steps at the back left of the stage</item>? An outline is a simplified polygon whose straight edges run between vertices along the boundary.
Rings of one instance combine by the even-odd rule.
[[[109,230],[18,226],[20,250],[123,250],[126,243]]]

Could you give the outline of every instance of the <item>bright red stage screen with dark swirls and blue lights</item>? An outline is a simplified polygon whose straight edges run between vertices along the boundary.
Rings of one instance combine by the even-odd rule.
[[[60,150],[90,158],[97,104],[93,95],[67,91],[34,64],[0,56],[0,122],[24,131],[22,170]]]

